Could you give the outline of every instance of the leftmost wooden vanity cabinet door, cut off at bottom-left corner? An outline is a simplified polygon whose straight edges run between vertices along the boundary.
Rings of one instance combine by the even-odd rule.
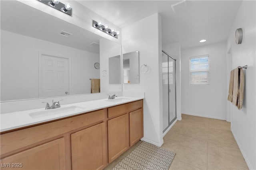
[[[64,170],[64,138],[1,159],[2,170]]]

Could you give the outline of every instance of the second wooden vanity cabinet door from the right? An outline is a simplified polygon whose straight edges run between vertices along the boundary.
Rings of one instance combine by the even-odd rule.
[[[128,113],[108,120],[108,162],[112,162],[129,148]]]

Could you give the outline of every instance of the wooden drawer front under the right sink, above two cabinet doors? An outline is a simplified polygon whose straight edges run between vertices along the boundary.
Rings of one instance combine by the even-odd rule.
[[[143,107],[143,100],[108,108],[108,118]]]

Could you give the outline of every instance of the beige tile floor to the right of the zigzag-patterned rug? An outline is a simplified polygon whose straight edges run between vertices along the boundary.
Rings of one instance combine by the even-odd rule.
[[[230,123],[223,120],[182,114],[162,147],[176,152],[170,170],[248,170]]]

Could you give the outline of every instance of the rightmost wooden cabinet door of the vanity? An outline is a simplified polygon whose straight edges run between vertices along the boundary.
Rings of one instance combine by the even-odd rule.
[[[138,109],[130,114],[130,146],[143,137],[143,110]]]

